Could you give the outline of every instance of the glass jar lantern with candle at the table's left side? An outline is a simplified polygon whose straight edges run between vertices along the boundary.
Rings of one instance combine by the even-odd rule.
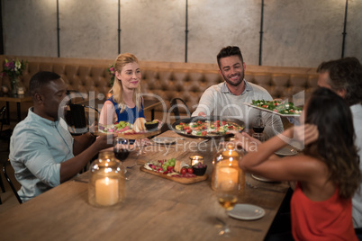
[[[124,167],[113,152],[100,152],[89,173],[88,201],[92,206],[109,207],[124,201]]]

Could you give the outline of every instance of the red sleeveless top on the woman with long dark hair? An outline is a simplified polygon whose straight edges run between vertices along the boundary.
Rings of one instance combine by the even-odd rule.
[[[295,240],[358,240],[352,223],[351,199],[339,198],[339,189],[326,201],[311,201],[297,183],[291,200]]]

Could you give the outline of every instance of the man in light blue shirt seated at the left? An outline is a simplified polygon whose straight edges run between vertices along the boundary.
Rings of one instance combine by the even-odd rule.
[[[22,185],[18,191],[28,201],[78,174],[100,150],[111,147],[113,138],[90,133],[73,138],[59,118],[59,104],[67,85],[59,75],[39,72],[29,84],[33,107],[16,125],[10,142],[10,161]],[[92,144],[93,143],[93,144]]]

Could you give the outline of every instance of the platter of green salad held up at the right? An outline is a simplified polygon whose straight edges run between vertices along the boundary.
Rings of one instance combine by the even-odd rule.
[[[300,116],[303,108],[295,106],[294,103],[257,100],[252,103],[243,103],[249,107],[256,108],[260,111],[270,112],[283,117]]]

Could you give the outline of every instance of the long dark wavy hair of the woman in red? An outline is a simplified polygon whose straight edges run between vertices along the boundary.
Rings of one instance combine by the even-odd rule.
[[[314,91],[306,104],[305,123],[316,125],[319,137],[303,153],[328,166],[329,180],[339,186],[339,196],[348,199],[361,181],[352,113],[346,102],[327,88]]]

